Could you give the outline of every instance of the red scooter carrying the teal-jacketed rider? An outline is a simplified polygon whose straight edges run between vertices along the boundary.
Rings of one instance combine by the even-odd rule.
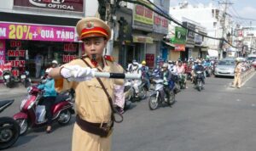
[[[14,119],[20,125],[20,135],[24,135],[28,127],[44,126],[47,123],[45,109],[38,114],[37,108],[42,102],[44,92],[37,87],[28,87],[28,95],[20,104],[20,112],[14,115]],[[60,125],[66,125],[74,114],[72,97],[68,95],[58,95],[51,108],[53,118]],[[42,106],[40,106],[42,107]]]

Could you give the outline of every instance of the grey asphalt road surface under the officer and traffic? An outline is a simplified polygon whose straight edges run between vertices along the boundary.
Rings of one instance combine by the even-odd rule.
[[[230,87],[230,78],[207,78],[202,92],[189,89],[177,94],[172,108],[151,111],[148,100],[135,103],[115,124],[113,151],[255,151],[256,76],[241,89]],[[20,100],[3,115],[19,111]],[[50,134],[33,129],[9,151],[69,151],[73,122],[55,124]]]

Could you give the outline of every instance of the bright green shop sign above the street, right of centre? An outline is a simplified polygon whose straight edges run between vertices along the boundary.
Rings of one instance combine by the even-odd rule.
[[[186,43],[187,30],[183,27],[175,27],[175,36],[171,39],[173,44],[185,44]]]

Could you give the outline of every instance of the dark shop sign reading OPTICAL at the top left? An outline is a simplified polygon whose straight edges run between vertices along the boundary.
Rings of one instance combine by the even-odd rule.
[[[14,0],[14,6],[83,12],[84,0]]]

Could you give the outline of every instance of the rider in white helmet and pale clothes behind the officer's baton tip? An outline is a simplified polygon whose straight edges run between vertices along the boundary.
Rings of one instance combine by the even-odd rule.
[[[142,74],[142,70],[139,70],[139,64],[136,61],[132,62],[128,72],[131,74]],[[133,80],[132,84],[136,93],[135,97],[138,98],[138,92],[139,92],[138,87],[142,84],[142,80]]]

